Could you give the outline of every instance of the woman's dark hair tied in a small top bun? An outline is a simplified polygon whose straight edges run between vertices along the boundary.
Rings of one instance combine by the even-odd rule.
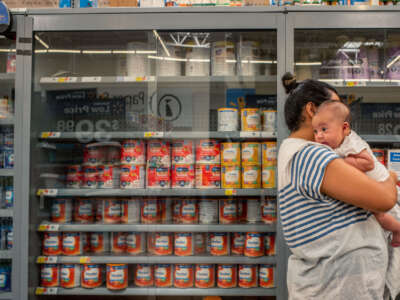
[[[302,112],[308,102],[319,106],[322,102],[330,100],[332,93],[336,93],[331,85],[313,79],[296,82],[296,77],[285,73],[282,84],[286,94],[289,94],[285,102],[285,120],[290,131],[296,131],[304,121]]]

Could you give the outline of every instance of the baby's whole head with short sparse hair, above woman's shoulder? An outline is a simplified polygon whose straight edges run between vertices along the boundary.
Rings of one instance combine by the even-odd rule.
[[[325,101],[318,107],[312,126],[317,143],[336,149],[350,134],[350,109],[340,101]]]

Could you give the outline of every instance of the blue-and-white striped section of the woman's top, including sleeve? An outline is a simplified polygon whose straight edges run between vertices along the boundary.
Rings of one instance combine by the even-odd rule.
[[[325,168],[338,156],[329,149],[309,145],[293,157],[290,184],[279,191],[283,233],[290,248],[300,247],[371,213],[321,194]]]

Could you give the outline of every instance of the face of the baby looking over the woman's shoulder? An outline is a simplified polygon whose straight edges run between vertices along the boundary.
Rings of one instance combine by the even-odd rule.
[[[315,141],[332,149],[338,148],[346,136],[345,122],[333,116],[329,110],[318,112],[313,117],[312,126]]]

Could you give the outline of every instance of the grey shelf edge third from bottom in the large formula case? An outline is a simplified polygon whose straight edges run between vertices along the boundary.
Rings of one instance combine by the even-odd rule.
[[[71,232],[275,232],[276,225],[259,224],[56,224],[42,222],[38,231]]]

